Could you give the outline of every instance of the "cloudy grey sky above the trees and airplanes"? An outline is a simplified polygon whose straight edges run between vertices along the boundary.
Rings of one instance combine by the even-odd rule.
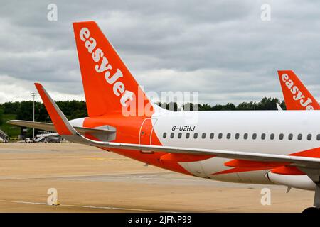
[[[47,20],[50,3],[58,21]],[[265,3],[271,21],[260,19]],[[84,99],[72,22],[87,20],[146,91],[198,91],[209,104],[282,99],[277,70],[292,69],[320,98],[317,1],[3,1],[0,103],[31,99],[33,82],[54,99]]]

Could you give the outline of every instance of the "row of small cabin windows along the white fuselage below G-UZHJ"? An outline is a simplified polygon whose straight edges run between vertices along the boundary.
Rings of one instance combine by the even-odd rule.
[[[190,138],[191,134],[190,133],[186,133],[186,138]],[[163,138],[166,138],[166,133],[163,134],[162,136]],[[215,137],[215,133],[210,133],[209,138],[213,139]],[[170,133],[170,138],[174,138],[174,133]],[[178,138],[182,138],[182,133],[178,133]],[[193,133],[193,138],[198,138],[198,133]],[[206,138],[206,133],[201,133],[201,138],[205,139]],[[223,133],[218,133],[218,139],[222,139],[223,138]],[[227,138],[228,140],[231,138],[231,133],[227,133],[227,135],[225,136],[225,138]],[[240,133],[235,133],[235,139],[238,140],[240,138]],[[243,134],[243,139],[247,140],[249,138],[249,134],[248,133],[244,133]],[[252,140],[257,139],[257,133],[252,133]],[[260,137],[262,140],[265,140],[267,138],[267,135],[265,133],[261,134]],[[270,134],[270,140],[274,140],[275,135],[274,133]],[[294,135],[292,133],[289,133],[288,135],[288,140],[292,140],[294,138]],[[303,136],[302,134],[298,134],[297,135],[297,140],[302,140]],[[279,140],[283,140],[284,139],[284,134],[280,133],[279,134]],[[307,140],[311,140],[312,139],[312,135],[308,134],[306,135],[306,139]],[[316,135],[316,140],[320,140],[320,134]]]

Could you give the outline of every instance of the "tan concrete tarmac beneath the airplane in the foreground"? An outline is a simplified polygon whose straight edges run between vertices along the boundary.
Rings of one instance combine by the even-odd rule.
[[[59,206],[47,204],[48,189]],[[261,204],[263,188],[271,204]],[[215,182],[73,143],[0,143],[0,212],[302,212],[314,192]]]

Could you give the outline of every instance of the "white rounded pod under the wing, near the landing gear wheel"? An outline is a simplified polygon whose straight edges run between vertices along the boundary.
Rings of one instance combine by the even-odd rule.
[[[277,173],[267,172],[265,177],[274,184],[311,191],[316,189],[316,184],[307,175],[279,175]]]

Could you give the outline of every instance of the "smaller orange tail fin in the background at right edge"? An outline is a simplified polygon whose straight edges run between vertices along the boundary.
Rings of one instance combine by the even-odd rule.
[[[287,110],[319,110],[320,105],[292,70],[279,70]]]

